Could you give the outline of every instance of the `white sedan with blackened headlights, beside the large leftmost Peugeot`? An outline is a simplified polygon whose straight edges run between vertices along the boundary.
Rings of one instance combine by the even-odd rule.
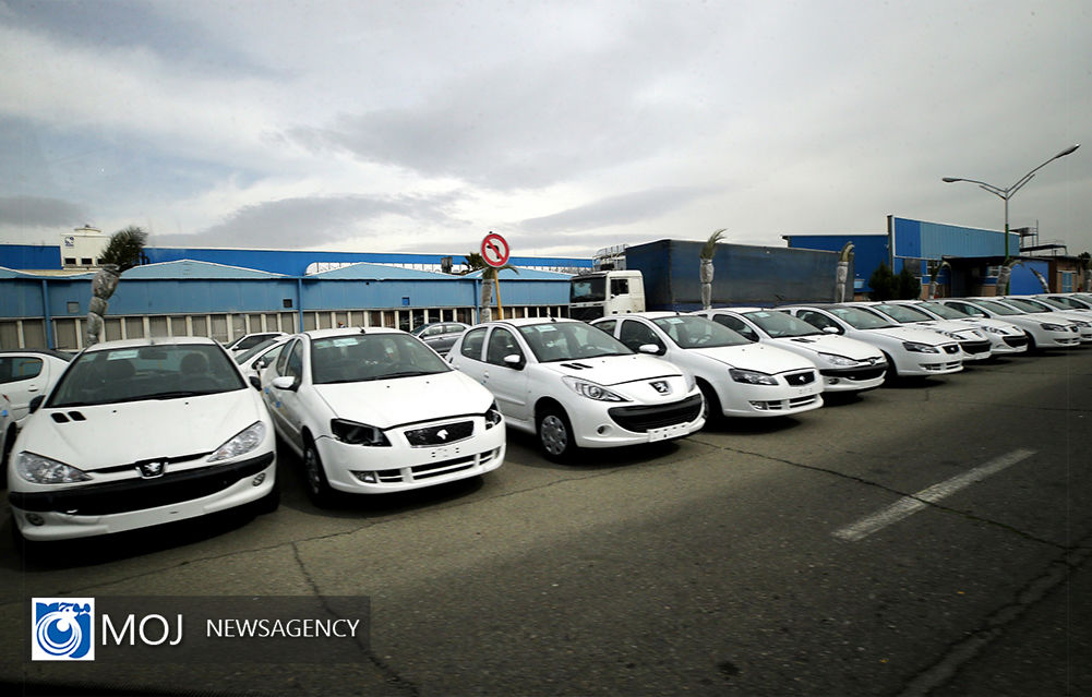
[[[488,390],[397,329],[295,334],[261,385],[319,506],[335,491],[420,488],[505,461],[505,422]]]

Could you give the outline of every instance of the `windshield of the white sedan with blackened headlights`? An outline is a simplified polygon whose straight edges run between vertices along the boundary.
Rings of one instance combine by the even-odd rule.
[[[311,340],[314,385],[366,382],[448,373],[436,352],[410,334],[349,334]]]

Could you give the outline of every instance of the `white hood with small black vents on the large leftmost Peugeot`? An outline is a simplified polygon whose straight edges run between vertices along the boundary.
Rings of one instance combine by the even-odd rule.
[[[67,421],[57,423],[55,414]],[[141,460],[211,453],[256,421],[270,426],[258,392],[249,388],[183,399],[43,409],[27,420],[16,447],[93,472]]]

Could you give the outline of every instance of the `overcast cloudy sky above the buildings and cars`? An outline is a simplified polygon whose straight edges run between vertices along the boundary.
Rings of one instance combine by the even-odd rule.
[[[0,241],[589,257],[893,214],[1092,249],[1092,0],[0,0]]]

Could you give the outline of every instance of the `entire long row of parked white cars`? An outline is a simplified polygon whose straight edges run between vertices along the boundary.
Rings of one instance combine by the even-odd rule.
[[[1072,294],[501,320],[465,329],[447,359],[385,328],[272,335],[236,355],[202,338],[8,352],[9,500],[35,541],[272,510],[280,436],[327,505],[490,472],[507,426],[565,460],[798,414],[888,375],[1092,343],[1089,318],[1092,296]]]

